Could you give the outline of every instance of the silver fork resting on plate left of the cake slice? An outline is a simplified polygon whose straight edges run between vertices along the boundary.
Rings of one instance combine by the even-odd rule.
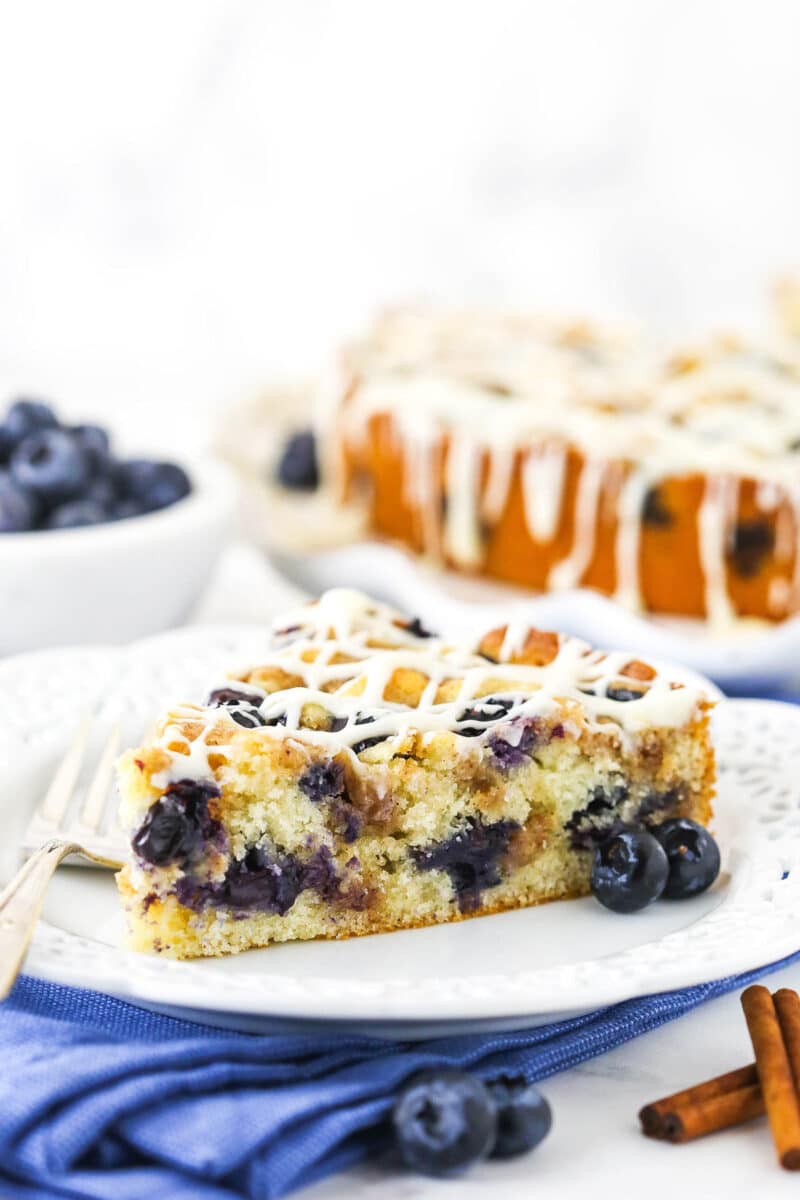
[[[125,850],[121,830],[115,828],[110,786],[119,726],[103,745],[83,800],[77,808],[73,804],[90,732],[91,720],[86,719],[28,826],[22,845],[26,862],[0,893],[0,1000],[19,974],[56,866],[72,856],[92,866],[116,870],[122,865]]]

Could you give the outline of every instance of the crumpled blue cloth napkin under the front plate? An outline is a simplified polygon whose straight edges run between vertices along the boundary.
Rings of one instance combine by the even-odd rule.
[[[0,1006],[0,1195],[273,1200],[384,1150],[392,1098],[421,1068],[545,1079],[798,960],[426,1043],[224,1033],[23,977]]]

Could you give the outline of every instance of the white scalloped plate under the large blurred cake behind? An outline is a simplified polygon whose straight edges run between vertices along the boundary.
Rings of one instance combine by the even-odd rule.
[[[578,588],[530,593],[477,576],[443,570],[387,542],[360,541],[335,550],[289,553],[267,547],[275,565],[293,583],[317,593],[348,580],[432,628],[450,623],[475,628],[504,624],[510,611],[524,613],[540,629],[563,629],[608,649],[632,650],[685,662],[739,691],[800,686],[800,617],[771,625],[740,620],[715,630],[687,617],[652,617]]]

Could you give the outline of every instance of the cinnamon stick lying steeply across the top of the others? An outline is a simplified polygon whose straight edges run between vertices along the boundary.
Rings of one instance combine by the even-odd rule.
[[[775,1002],[756,984],[742,992],[741,1007],[778,1160],[786,1170],[800,1170],[800,1104]]]

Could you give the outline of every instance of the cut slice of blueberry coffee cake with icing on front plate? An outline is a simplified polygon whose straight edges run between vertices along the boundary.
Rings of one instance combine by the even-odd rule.
[[[132,944],[178,958],[588,893],[612,830],[706,822],[711,702],[527,624],[469,641],[344,589],[120,763]]]

